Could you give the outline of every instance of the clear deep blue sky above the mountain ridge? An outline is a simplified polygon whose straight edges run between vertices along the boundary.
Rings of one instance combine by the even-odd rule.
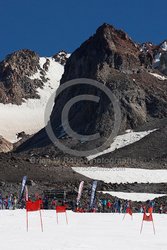
[[[74,51],[104,22],[136,42],[167,39],[166,0],[0,0],[0,59],[22,48]]]

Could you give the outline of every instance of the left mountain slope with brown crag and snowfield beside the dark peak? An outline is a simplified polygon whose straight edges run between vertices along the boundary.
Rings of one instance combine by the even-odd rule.
[[[0,62],[0,135],[16,142],[17,133],[32,135],[45,126],[45,106],[59,86],[68,56],[62,51],[46,58],[20,50]]]

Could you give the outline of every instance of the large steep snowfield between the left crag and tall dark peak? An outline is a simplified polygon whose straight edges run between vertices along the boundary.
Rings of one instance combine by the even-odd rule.
[[[40,67],[46,62],[45,57],[40,58]],[[50,66],[46,71],[46,78],[43,89],[38,88],[40,99],[28,99],[21,105],[0,104],[0,135],[10,142],[16,142],[16,134],[24,131],[27,134],[34,134],[45,126],[45,106],[51,94],[59,87],[59,82],[64,72],[64,66],[48,58]],[[30,77],[40,79],[40,71]]]

